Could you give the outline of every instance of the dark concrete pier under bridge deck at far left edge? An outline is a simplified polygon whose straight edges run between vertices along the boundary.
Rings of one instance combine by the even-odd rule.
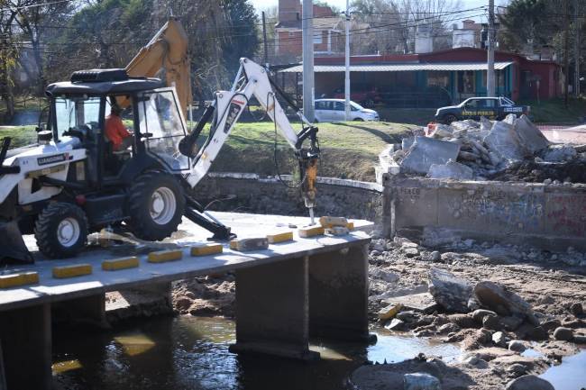
[[[50,304],[2,312],[0,341],[8,389],[51,389]]]

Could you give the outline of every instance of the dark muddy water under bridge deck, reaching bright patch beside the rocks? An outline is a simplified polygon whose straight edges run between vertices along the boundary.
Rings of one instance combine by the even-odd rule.
[[[234,355],[228,351],[233,321],[157,318],[111,332],[56,334],[53,376],[57,389],[68,390],[337,390],[367,360],[398,362],[423,352],[451,361],[460,355],[453,344],[373,332],[374,345],[315,341],[310,349],[322,359],[304,363]]]

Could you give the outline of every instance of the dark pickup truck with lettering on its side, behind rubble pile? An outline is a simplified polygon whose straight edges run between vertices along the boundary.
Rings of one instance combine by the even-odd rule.
[[[507,97],[470,97],[458,105],[449,105],[437,109],[435,121],[450,124],[464,119],[481,119],[481,116],[492,120],[502,120],[509,113],[517,115],[529,114],[528,105],[517,105]]]

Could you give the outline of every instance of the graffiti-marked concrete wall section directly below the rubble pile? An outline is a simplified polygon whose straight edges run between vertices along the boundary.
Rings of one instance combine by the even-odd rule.
[[[410,230],[430,243],[456,234],[586,249],[586,186],[386,177],[385,187],[391,235]]]

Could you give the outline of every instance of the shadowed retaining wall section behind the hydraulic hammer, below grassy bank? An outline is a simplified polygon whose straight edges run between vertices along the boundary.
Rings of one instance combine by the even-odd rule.
[[[283,175],[282,179],[288,186],[293,186],[290,176]],[[383,186],[330,177],[318,177],[317,183],[316,215],[345,216],[381,223]],[[197,200],[204,204],[214,202],[210,210],[307,215],[299,189],[288,186],[275,177],[210,173],[197,185],[196,195]]]

